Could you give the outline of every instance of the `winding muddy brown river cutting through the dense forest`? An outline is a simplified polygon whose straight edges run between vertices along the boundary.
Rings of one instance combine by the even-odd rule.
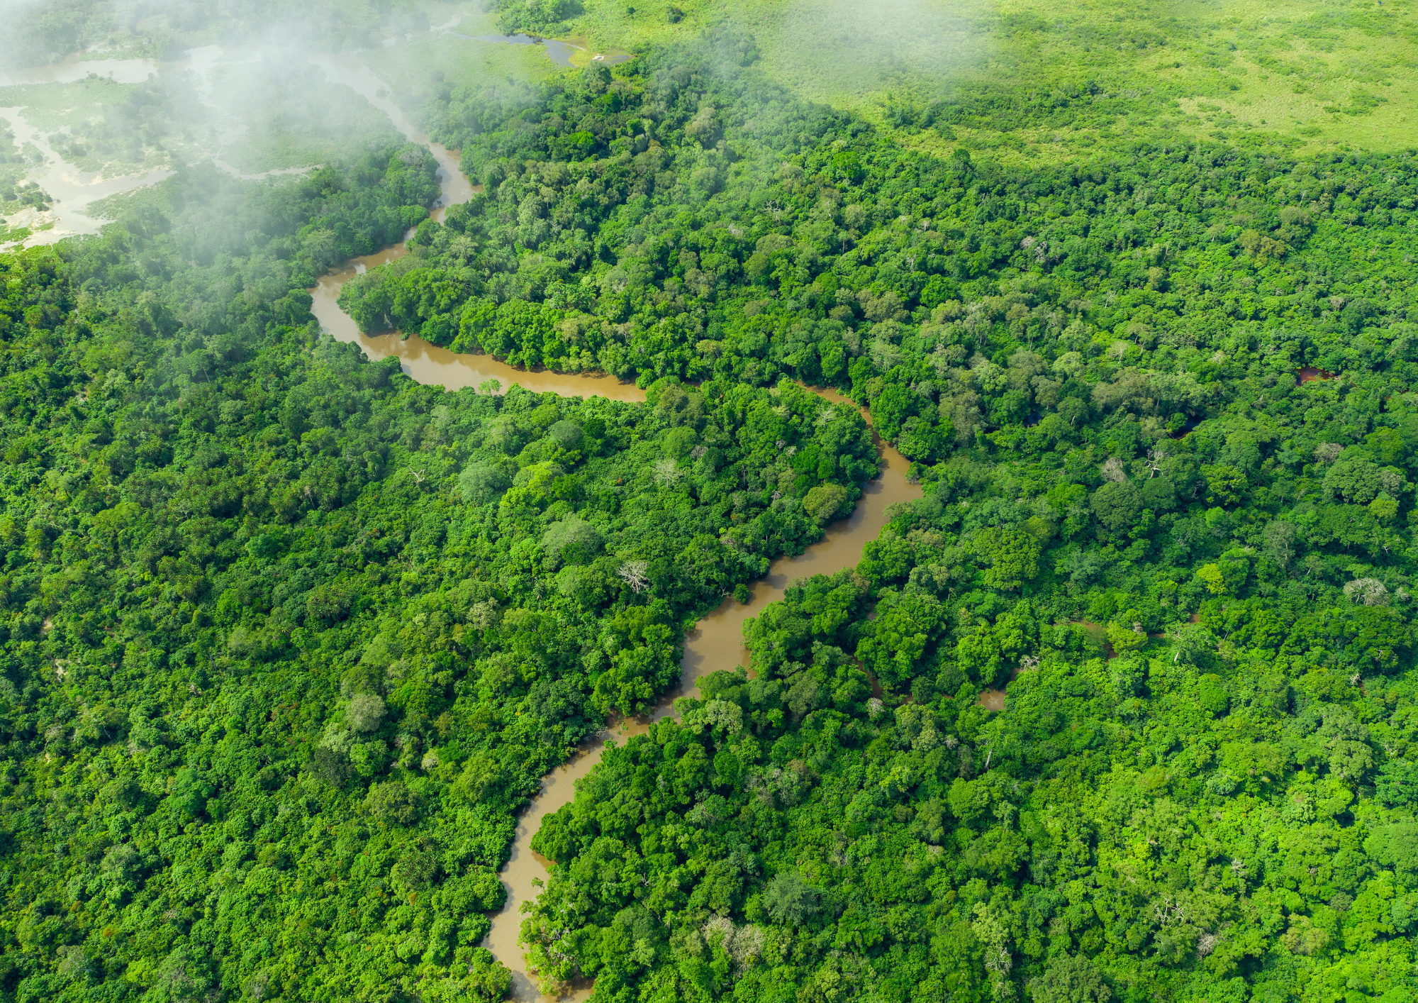
[[[434,210],[435,218],[441,218],[448,206],[472,196],[472,186],[459,172],[457,156],[437,143],[430,143],[425,135],[414,129],[403,113],[381,96],[383,88],[367,68],[353,61],[342,64],[335,60],[322,60],[319,65],[332,79],[349,84],[376,106],[389,112],[390,121],[410,142],[430,146],[440,163],[438,180],[442,186],[442,197]],[[393,261],[406,253],[407,248],[403,244],[396,244],[377,254],[356,258],[340,271],[325,275],[311,291],[312,311],[320,326],[337,340],[359,345],[364,355],[372,359],[397,356],[408,376],[430,386],[441,384],[448,390],[479,387],[486,380],[495,379],[503,389],[516,383],[539,393],[552,392],[576,397],[603,396],[627,401],[645,399],[645,392],[632,383],[621,383],[604,373],[526,372],[486,355],[458,355],[417,336],[401,339],[397,333],[366,335],[360,332],[354,321],[339,306],[340,288],[367,268]],[[815,390],[815,393],[834,403],[851,404],[835,390]],[[542,820],[547,813],[556,811],[571,800],[576,794],[576,782],[590,773],[600,762],[607,741],[624,742],[627,738],[644,733],[651,722],[672,715],[674,701],[693,692],[699,677],[720,668],[747,665],[749,651],[743,645],[743,624],[749,617],[761,613],[769,603],[781,599],[788,583],[810,575],[831,575],[851,567],[861,559],[862,546],[875,539],[886,525],[889,506],[920,497],[920,488],[906,481],[909,465],[906,458],[881,441],[878,441],[878,451],[882,475],[865,485],[862,499],[851,516],[832,523],[827,535],[808,548],[805,553],[773,562],[769,575],[754,584],[749,603],[737,603],[732,597],[725,599],[716,610],[699,620],[695,630],[685,638],[679,684],[664,695],[654,712],[645,718],[623,721],[611,731],[603,732],[596,741],[584,743],[567,763],[543,779],[540,793],[532,799],[518,821],[512,854],[502,870],[508,901],[502,911],[492,918],[492,931],[485,941],[485,946],[493,956],[512,970],[512,999],[549,1003],[557,999],[584,1000],[590,996],[590,987],[586,986],[567,989],[562,996],[543,994],[535,976],[527,972],[522,948],[518,943],[522,907],[536,897],[537,882],[547,880],[547,861],[532,853],[530,846]]]

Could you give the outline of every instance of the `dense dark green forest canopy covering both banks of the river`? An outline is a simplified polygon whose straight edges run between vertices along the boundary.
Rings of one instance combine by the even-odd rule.
[[[415,148],[7,255],[9,999],[498,999],[537,777],[875,472],[795,382],[926,497],[547,820],[549,983],[1412,996],[1411,155],[940,159],[733,33],[424,113],[349,312],[648,400],[318,336]]]

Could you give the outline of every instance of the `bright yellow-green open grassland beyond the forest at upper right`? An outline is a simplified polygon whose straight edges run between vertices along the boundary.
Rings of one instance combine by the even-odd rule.
[[[590,0],[559,34],[638,51],[726,20],[750,31],[764,70],[803,96],[943,152],[1058,159],[1100,140],[1218,133],[1299,152],[1418,142],[1418,16],[1402,0]],[[970,123],[913,128],[913,112],[940,99],[963,104]]]

